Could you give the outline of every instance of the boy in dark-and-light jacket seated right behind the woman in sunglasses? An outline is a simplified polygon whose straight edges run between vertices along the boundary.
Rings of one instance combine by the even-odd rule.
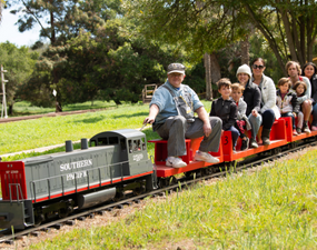
[[[299,111],[299,104],[296,93],[290,90],[290,80],[281,78],[278,81],[279,90],[276,91],[276,104],[280,111],[281,117],[291,117],[293,120],[293,136],[298,136],[295,126],[295,118]]]

